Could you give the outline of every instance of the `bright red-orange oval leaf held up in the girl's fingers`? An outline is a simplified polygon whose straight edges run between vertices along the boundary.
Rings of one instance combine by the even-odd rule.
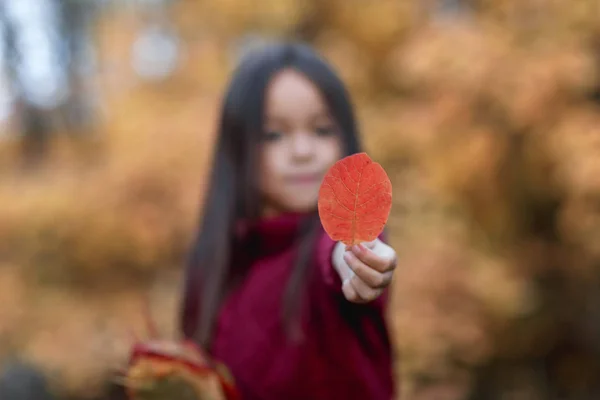
[[[319,190],[319,217],[331,239],[351,246],[375,240],[392,208],[392,183],[366,153],[336,162]]]

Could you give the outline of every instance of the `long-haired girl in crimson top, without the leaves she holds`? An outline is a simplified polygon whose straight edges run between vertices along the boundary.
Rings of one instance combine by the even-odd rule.
[[[384,321],[396,255],[346,251],[317,214],[321,181],[360,152],[343,83],[309,47],[247,56],[227,91],[186,276],[182,330],[245,400],[393,398]]]

